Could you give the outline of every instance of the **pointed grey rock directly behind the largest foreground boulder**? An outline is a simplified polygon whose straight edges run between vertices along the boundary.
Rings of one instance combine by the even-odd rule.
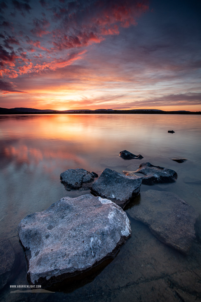
[[[141,183],[141,177],[125,176],[115,170],[106,168],[100,177],[93,182],[91,191],[124,208],[130,198],[139,194]]]

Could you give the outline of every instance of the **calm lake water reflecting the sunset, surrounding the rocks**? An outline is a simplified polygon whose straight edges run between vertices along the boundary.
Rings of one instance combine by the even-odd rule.
[[[17,266],[2,289],[2,301],[198,301],[201,299],[201,222],[189,255],[163,244],[145,224],[129,215],[132,236],[112,261],[86,280],[57,284],[55,293],[13,293],[10,284],[28,284],[24,251],[17,225],[64,196],[90,191],[66,191],[61,172],[83,168],[101,174],[105,168],[122,173],[150,162],[177,172],[177,182],[142,185],[177,194],[201,214],[201,117],[163,114],[42,114],[1,115],[1,237],[10,240]],[[168,133],[174,130],[175,133]],[[143,159],[119,157],[128,150]],[[185,158],[178,163],[171,158]],[[133,170],[134,171],[134,170]],[[186,179],[191,182],[186,182]]]

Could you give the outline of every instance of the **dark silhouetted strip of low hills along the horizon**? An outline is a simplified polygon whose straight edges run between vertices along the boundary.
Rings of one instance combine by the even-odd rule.
[[[201,111],[163,111],[159,109],[132,109],[132,110],[113,110],[113,109],[71,109],[71,110],[52,110],[35,108],[0,108],[0,114],[201,114]]]

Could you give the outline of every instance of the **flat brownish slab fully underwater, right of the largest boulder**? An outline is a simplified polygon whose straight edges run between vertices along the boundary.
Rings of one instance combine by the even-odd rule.
[[[140,193],[140,203],[127,210],[134,219],[149,226],[163,243],[187,253],[196,238],[196,210],[176,194],[148,190]]]

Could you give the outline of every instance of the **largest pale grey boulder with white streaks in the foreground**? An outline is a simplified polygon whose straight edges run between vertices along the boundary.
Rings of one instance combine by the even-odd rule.
[[[91,194],[64,197],[18,225],[30,284],[49,286],[113,257],[130,236],[126,213]]]

